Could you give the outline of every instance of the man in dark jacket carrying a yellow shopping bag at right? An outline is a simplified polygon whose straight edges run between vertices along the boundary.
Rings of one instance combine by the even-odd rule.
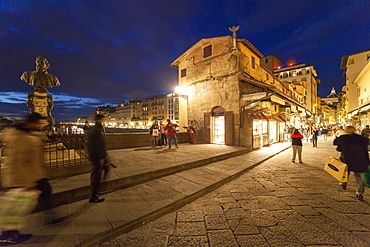
[[[334,145],[337,145],[337,151],[341,152],[341,161],[348,165],[348,175],[351,171],[355,173],[356,198],[363,201],[365,190],[363,173],[367,172],[369,165],[368,139],[356,134],[356,128],[353,126],[346,126],[344,131],[344,135],[334,140]],[[347,183],[342,183],[342,188],[346,189],[346,187]]]

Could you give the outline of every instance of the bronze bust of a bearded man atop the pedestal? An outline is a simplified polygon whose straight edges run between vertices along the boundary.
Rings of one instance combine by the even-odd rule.
[[[59,79],[46,71],[48,68],[50,68],[50,64],[46,58],[36,57],[36,71],[24,72],[21,80],[35,86],[35,92],[46,93],[46,88],[60,85]]]

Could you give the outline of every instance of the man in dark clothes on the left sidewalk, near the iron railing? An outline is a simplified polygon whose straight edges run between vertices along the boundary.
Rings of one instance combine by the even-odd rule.
[[[90,128],[87,134],[87,150],[89,159],[92,163],[90,177],[90,200],[89,202],[103,202],[104,198],[99,198],[99,186],[103,169],[109,169],[107,161],[107,149],[105,144],[105,131],[103,123],[105,116],[97,114],[95,116],[95,125]]]

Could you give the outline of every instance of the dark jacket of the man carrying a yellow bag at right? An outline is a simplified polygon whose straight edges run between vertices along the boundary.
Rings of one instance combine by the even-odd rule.
[[[341,152],[340,159],[348,165],[348,171],[367,172],[369,154],[368,139],[358,134],[341,135],[334,140],[337,151]]]

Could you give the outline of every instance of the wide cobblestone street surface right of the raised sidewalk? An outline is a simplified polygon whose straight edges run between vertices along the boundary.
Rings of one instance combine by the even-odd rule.
[[[323,171],[334,148],[304,145],[304,164],[290,162],[288,149],[193,203],[100,246],[370,246],[370,189],[364,202],[356,201],[353,175],[342,190]]]

